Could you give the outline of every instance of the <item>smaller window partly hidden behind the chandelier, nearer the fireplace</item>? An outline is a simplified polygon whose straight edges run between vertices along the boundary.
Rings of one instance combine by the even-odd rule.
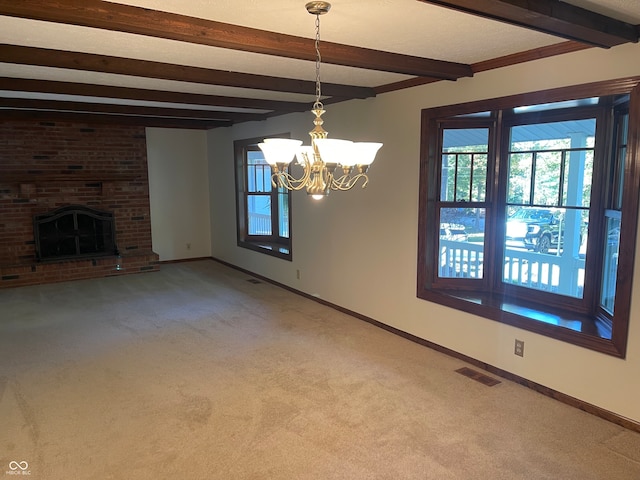
[[[238,245],[291,260],[291,196],[272,186],[261,141],[234,142]]]

